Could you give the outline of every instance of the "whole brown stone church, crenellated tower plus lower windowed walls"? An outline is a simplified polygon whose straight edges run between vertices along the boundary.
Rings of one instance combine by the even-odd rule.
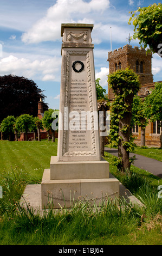
[[[109,74],[112,74],[118,69],[130,68],[139,75],[141,88],[138,92],[139,97],[146,97],[150,94],[150,90],[154,88],[152,75],[152,53],[147,53],[144,48],[139,48],[131,45],[125,45],[118,50],[108,52]],[[160,81],[161,82],[161,81]],[[112,89],[108,85],[109,101],[114,99]],[[133,127],[133,135],[137,137],[135,143],[140,145],[140,127]],[[160,132],[159,121],[149,123],[146,126],[146,145],[152,147],[160,147]]]

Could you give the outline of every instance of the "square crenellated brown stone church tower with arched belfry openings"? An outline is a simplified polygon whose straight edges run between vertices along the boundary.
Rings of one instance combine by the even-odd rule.
[[[109,74],[112,74],[118,69],[133,69],[139,75],[141,89],[146,84],[153,83],[153,75],[151,72],[152,53],[147,53],[144,48],[139,48],[131,45],[125,45],[118,50],[108,52]],[[140,95],[140,92],[139,92]],[[114,99],[112,89],[108,86],[109,100]]]

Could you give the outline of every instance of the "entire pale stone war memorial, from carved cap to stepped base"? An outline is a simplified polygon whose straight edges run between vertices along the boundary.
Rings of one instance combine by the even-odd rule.
[[[70,197],[119,196],[119,181],[109,178],[100,157],[92,24],[62,24],[62,67],[57,156],[42,178],[42,208],[70,207]],[[60,192],[61,191],[61,192]]]

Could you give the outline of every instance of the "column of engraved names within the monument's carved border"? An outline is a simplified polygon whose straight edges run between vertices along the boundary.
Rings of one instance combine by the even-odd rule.
[[[69,142],[68,151],[91,151],[91,129],[89,97],[87,88],[86,62],[82,56],[81,64],[72,58],[72,72],[69,82]],[[75,65],[74,65],[75,64]],[[81,72],[78,72],[81,70]],[[76,70],[76,71],[75,71]],[[89,124],[89,125],[88,125]]]

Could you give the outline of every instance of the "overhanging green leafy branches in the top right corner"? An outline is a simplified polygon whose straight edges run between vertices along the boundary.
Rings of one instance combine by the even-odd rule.
[[[139,13],[137,15],[137,12]],[[144,44],[144,48],[147,45],[153,53],[158,53],[162,57],[161,50],[161,33],[162,33],[162,4],[152,4],[148,7],[138,8],[136,11],[130,12],[128,24],[131,25],[133,21],[134,25],[134,39],[139,39],[140,46]]]

